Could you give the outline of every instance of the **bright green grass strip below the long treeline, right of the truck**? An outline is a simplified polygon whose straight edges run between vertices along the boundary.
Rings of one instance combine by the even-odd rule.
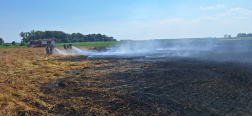
[[[109,42],[76,42],[72,43],[73,46],[93,46],[93,47],[105,47],[114,46],[120,43],[119,41],[109,41]],[[56,47],[63,47],[64,44],[69,43],[56,43]]]

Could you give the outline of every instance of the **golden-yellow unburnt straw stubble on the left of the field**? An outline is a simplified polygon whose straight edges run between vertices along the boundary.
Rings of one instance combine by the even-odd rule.
[[[0,115],[48,113],[53,104],[41,97],[51,97],[40,91],[42,84],[63,78],[66,71],[90,66],[90,62],[69,62],[55,59],[64,56],[45,56],[44,48],[0,49]]]

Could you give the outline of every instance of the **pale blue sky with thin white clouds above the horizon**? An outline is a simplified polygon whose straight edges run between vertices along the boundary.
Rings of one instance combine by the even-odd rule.
[[[0,38],[31,30],[105,34],[117,40],[252,33],[251,0],[0,0]]]

